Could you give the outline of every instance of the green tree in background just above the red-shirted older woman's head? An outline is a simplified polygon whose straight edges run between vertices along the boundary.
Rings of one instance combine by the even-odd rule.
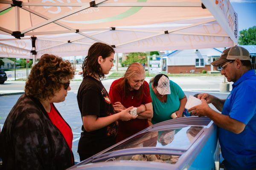
[[[145,52],[131,52],[125,61],[122,62],[124,65],[130,65],[131,63],[147,63],[147,55]]]

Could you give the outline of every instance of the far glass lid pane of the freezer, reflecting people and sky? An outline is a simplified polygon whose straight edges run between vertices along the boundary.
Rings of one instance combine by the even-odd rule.
[[[181,127],[171,130],[145,132],[108,150],[122,150],[139,147],[163,147],[165,149],[187,150],[203,127]]]

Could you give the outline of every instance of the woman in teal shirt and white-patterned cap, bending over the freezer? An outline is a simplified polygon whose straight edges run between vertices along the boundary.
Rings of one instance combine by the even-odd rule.
[[[187,98],[179,85],[159,74],[151,79],[149,88],[154,111],[152,124],[172,119],[174,112],[182,117]]]

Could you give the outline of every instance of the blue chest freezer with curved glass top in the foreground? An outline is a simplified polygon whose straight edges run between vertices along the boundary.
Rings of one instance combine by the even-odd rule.
[[[217,127],[207,117],[154,124],[69,170],[215,170]]]

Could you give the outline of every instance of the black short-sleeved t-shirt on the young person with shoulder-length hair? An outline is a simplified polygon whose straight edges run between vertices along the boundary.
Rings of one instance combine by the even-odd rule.
[[[115,114],[108,92],[102,82],[91,76],[86,76],[83,79],[78,90],[77,101],[81,118],[87,115],[103,118]],[[93,131],[86,131],[82,125],[83,132],[79,139],[78,152],[96,154],[112,146],[115,144],[117,128],[117,121]]]

